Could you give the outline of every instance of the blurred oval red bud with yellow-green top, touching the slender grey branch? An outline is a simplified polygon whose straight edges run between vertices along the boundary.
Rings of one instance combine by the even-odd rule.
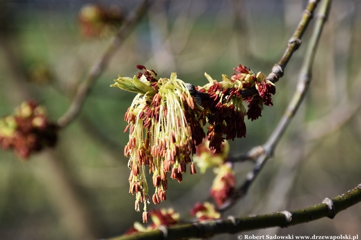
[[[215,168],[214,172],[217,175],[213,180],[210,193],[217,205],[222,206],[235,189],[235,173],[230,162]]]

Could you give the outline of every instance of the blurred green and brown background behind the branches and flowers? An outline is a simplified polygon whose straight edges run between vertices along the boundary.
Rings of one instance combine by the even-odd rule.
[[[87,3],[113,9],[120,22],[139,0],[0,0],[0,116],[29,98],[54,121],[68,108],[81,82],[118,27],[99,34],[81,28]],[[221,80],[239,63],[268,74],[287,47],[306,0],[156,0],[96,81],[80,116],[59,134],[54,150],[21,160],[0,151],[0,239],[94,239],[123,234],[141,213],[128,193],[128,134],[124,113],[135,94],[111,88],[136,64],[159,76],[204,85],[204,72]],[[248,195],[225,212],[235,216],[320,203],[361,183],[361,4],[335,0],[319,42],[309,92]],[[84,27],[84,26],[83,26]],[[285,110],[313,28],[277,85],[274,106],[247,120],[247,137],[231,153],[263,144]],[[87,34],[88,33],[88,34]],[[240,185],[252,162],[235,164]],[[167,200],[185,220],[209,196],[214,178],[186,173],[168,182]],[[150,190],[152,191],[152,190]],[[361,204],[334,219],[246,234],[361,236]],[[236,234],[237,235],[237,234]],[[236,235],[216,239],[236,239]]]

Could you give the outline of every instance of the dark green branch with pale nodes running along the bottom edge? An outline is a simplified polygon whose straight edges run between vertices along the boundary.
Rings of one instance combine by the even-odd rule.
[[[114,237],[109,240],[206,238],[220,233],[237,233],[275,226],[287,227],[326,216],[333,218],[338,212],[360,201],[361,184],[342,195],[332,199],[325,198],[322,203],[309,207],[290,211],[284,210],[241,217],[229,216],[228,219],[178,224],[148,232]]]

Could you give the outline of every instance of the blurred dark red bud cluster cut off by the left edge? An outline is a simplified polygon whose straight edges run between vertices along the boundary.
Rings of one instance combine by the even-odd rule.
[[[25,101],[15,110],[15,114],[0,119],[0,146],[14,149],[23,159],[34,151],[46,146],[54,146],[57,127],[49,121],[45,109],[35,101]]]

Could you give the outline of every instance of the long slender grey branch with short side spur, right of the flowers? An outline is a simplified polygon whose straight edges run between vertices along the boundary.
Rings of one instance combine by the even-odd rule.
[[[256,157],[256,165],[254,166],[253,170],[247,174],[246,180],[244,181],[242,186],[235,191],[234,196],[228,202],[226,202],[223,206],[220,207],[220,210],[228,209],[239,198],[243,197],[247,193],[249,186],[256,179],[258,173],[260,172],[264,164],[271,156],[273,156],[274,150],[278,142],[280,141],[292,117],[295,115],[298,107],[300,106],[311,81],[311,68],[316,53],[316,46],[319,41],[323,25],[327,19],[330,6],[331,0],[324,0],[320,8],[320,11],[318,13],[318,19],[316,21],[315,28],[313,30],[310,42],[306,50],[306,55],[304,57],[304,61],[300,70],[297,89],[293,95],[291,102],[289,103],[275,130],[268,138],[266,143],[262,146],[263,150],[260,150],[260,147],[256,146],[252,148],[249,153],[246,154],[246,156],[249,155],[250,157]],[[257,154],[252,154],[252,152],[254,151],[256,151],[260,155],[257,156]],[[240,157],[240,160],[243,160],[244,157],[245,156],[243,156],[243,158]],[[235,160],[236,159],[233,159],[233,161]]]

